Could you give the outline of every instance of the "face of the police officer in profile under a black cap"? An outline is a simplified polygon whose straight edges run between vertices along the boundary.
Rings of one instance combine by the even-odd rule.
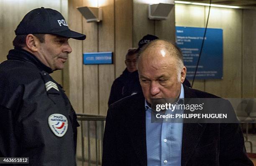
[[[44,43],[39,43],[37,52],[41,57],[42,63],[53,71],[63,69],[64,63],[68,59],[68,54],[72,52],[68,38],[46,34],[44,40]]]

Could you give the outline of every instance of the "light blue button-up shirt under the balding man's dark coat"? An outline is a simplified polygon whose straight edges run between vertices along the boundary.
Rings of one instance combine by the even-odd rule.
[[[184,98],[183,85],[179,98]],[[151,108],[146,100],[145,108],[148,166],[181,166],[183,123],[151,123]]]

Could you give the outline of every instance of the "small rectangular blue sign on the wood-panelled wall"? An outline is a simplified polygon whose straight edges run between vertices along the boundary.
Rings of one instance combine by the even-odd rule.
[[[113,52],[84,53],[84,64],[112,64]]]

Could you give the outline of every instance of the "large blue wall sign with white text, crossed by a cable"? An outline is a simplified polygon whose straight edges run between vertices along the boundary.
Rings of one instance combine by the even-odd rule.
[[[187,79],[192,80],[205,28],[176,27],[176,43],[182,50]],[[223,78],[223,30],[207,28],[195,79]]]

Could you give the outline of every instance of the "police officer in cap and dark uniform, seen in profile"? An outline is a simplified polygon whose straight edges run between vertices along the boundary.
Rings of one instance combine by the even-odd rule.
[[[32,166],[75,166],[77,117],[49,75],[72,52],[69,30],[56,10],[37,8],[15,30],[14,49],[0,64],[0,157],[29,157]],[[19,164],[20,165],[20,164]]]

